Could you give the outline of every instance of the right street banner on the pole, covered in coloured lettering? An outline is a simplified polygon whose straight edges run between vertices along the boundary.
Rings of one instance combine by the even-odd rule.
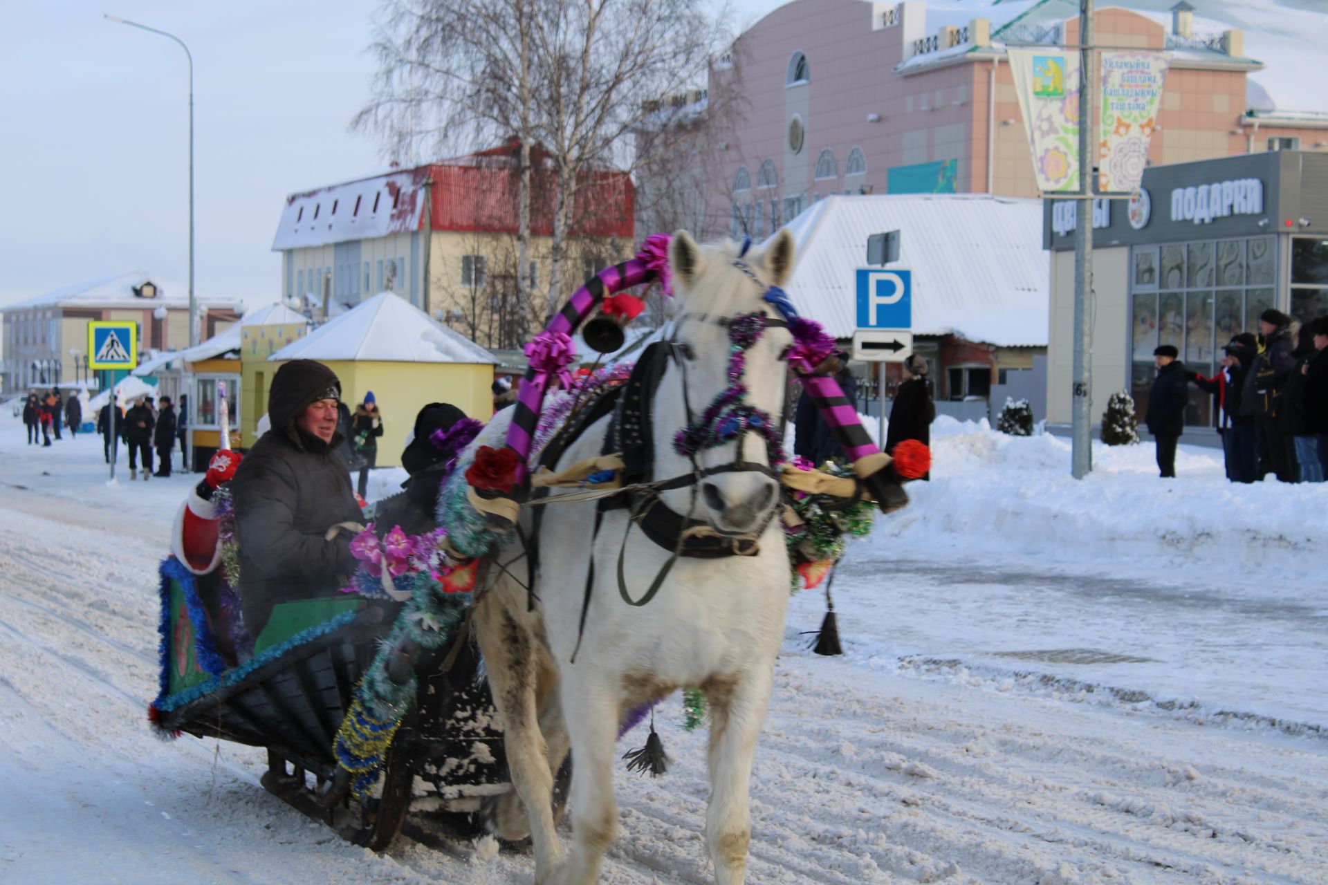
[[[1143,180],[1157,118],[1166,56],[1159,52],[1104,52],[1102,131],[1098,139],[1098,194],[1133,194]]]

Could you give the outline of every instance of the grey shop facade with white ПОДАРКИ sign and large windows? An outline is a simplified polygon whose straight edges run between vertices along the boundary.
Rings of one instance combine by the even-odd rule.
[[[1048,421],[1069,423],[1073,389],[1076,203],[1045,200],[1052,252]],[[1211,377],[1222,346],[1258,333],[1270,306],[1307,322],[1328,314],[1328,155],[1268,151],[1150,167],[1137,200],[1093,211],[1093,419],[1126,390],[1142,419],[1169,344]],[[1186,426],[1212,429],[1208,394],[1190,389]]]

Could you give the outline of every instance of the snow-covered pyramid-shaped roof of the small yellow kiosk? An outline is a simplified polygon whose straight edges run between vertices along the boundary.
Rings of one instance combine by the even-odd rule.
[[[282,348],[268,360],[478,362],[483,365],[498,362],[478,344],[453,332],[392,292],[380,292],[341,316],[328,320],[299,341],[292,341]]]

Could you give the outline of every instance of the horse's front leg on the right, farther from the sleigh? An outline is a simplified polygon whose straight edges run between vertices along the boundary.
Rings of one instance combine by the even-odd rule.
[[[752,841],[748,789],[752,755],[765,720],[773,679],[770,663],[737,677],[713,677],[701,686],[710,707],[710,805],[705,844],[716,885],[741,885]]]

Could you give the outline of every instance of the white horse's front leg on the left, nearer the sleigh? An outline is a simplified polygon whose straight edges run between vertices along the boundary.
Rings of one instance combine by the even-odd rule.
[[[575,667],[574,667],[575,670]],[[578,674],[579,675],[579,674]],[[599,679],[568,678],[562,683],[563,723],[571,740],[572,849],[558,885],[594,885],[599,864],[618,829],[614,799],[614,759],[622,690]]]

